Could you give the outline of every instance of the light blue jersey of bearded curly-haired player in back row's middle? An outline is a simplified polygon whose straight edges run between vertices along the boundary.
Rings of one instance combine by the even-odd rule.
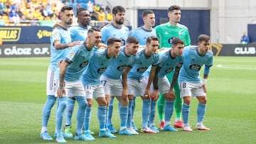
[[[102,43],[107,45],[107,39],[109,38],[119,38],[122,40],[121,45],[126,44],[126,40],[129,35],[129,28],[127,26],[122,25],[121,28],[114,27],[112,23],[101,29],[102,32]]]

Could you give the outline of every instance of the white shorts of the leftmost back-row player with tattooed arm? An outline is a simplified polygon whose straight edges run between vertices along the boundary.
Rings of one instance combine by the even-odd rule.
[[[47,79],[46,79],[46,95],[55,95],[55,78],[54,78],[54,71],[50,70],[48,67],[47,70]]]

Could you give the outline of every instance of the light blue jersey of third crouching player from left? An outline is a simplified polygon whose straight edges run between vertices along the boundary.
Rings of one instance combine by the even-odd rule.
[[[127,67],[127,65],[133,61],[134,56],[127,56],[124,46],[120,49],[118,57],[112,60],[111,64],[109,67],[107,67],[107,70],[103,73],[103,75],[109,79],[120,79],[125,67]]]

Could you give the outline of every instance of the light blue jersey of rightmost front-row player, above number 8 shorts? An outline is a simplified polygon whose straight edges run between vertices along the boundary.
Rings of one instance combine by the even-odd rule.
[[[178,75],[178,82],[201,82],[200,70],[203,65],[211,67],[213,65],[213,52],[208,50],[206,55],[198,54],[198,46],[187,46],[183,50],[183,67]]]

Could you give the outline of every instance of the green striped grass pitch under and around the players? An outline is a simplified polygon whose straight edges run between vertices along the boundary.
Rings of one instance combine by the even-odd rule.
[[[41,113],[46,101],[46,72],[49,57],[0,58],[0,143],[56,143],[39,138]],[[203,72],[201,72],[203,73]],[[256,57],[214,57],[208,78],[208,103],[204,124],[211,131],[158,134],[118,135],[97,138],[97,103],[92,109],[91,130],[96,140],[90,142],[66,139],[68,143],[256,143]],[[190,124],[196,125],[196,106],[192,100]],[[76,104],[75,106],[77,106]],[[142,125],[142,100],[137,98],[135,123]],[[73,131],[75,132],[75,113]],[[112,121],[119,128],[117,99]],[[174,116],[171,123],[174,123]],[[159,124],[156,113],[156,126]],[[55,131],[55,106],[48,123]]]

